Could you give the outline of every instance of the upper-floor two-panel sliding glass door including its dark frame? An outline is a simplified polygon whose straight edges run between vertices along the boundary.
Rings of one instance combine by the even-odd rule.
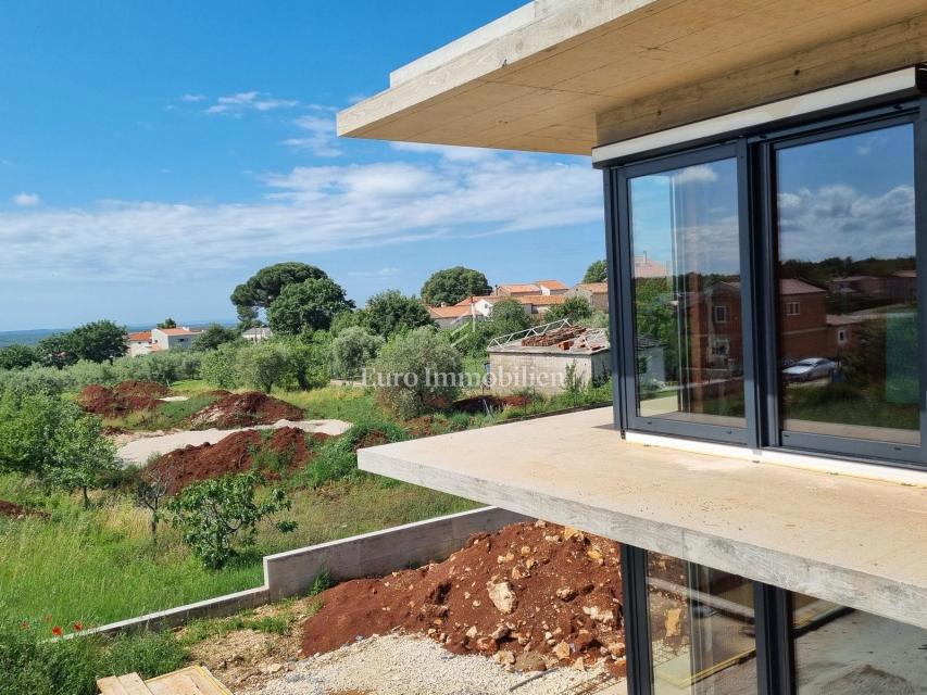
[[[918,113],[615,167],[623,427],[927,465]]]

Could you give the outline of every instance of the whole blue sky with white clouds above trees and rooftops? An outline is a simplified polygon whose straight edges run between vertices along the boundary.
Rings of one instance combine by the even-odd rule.
[[[335,112],[517,1],[0,5],[0,330],[231,318],[304,261],[363,302],[463,264],[575,282],[588,159],[337,140]]]

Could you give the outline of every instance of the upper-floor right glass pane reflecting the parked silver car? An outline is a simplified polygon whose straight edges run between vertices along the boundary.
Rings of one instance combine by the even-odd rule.
[[[919,444],[913,127],[778,152],[782,428]]]

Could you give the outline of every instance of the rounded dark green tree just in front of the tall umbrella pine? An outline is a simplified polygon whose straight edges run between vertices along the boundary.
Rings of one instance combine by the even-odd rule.
[[[325,276],[284,287],[267,309],[267,321],[276,334],[297,336],[327,330],[336,315],[353,306],[341,286]]]

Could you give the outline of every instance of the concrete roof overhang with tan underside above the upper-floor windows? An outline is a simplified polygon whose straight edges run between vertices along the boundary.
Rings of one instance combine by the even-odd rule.
[[[338,134],[588,155],[925,60],[923,0],[536,0],[394,71]]]

